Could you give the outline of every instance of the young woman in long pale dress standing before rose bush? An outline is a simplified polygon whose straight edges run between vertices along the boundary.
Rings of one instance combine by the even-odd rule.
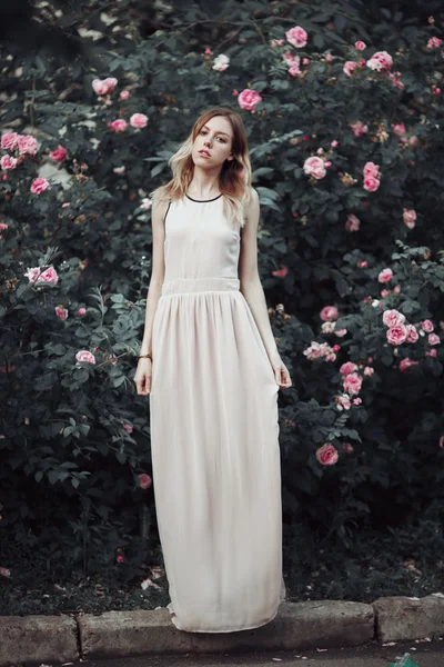
[[[152,195],[134,381],[150,395],[155,509],[180,630],[271,621],[285,597],[278,392],[291,387],[258,273],[242,118],[202,113]]]

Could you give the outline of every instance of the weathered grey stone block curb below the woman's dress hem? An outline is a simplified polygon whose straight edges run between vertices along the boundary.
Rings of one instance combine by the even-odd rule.
[[[276,617],[253,630],[184,633],[168,609],[101,615],[0,616],[0,667],[150,654],[309,650],[402,641],[444,634],[444,595],[282,603]]]

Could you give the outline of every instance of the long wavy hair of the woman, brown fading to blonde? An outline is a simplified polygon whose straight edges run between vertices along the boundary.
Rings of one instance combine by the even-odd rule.
[[[245,126],[241,116],[229,107],[216,107],[201,113],[179,150],[170,158],[173,178],[157,188],[150,197],[153,205],[182,199],[193,179],[194,162],[191,156],[194,140],[204,125],[214,116],[223,116],[233,128],[232,160],[225,160],[219,175],[219,189],[223,195],[224,210],[233,220],[244,226],[244,207],[251,197],[251,162]]]

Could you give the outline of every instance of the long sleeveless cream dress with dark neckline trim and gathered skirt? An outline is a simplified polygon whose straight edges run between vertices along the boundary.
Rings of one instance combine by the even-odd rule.
[[[180,630],[246,630],[285,598],[279,385],[223,196],[172,201],[164,225],[150,430],[168,609]]]

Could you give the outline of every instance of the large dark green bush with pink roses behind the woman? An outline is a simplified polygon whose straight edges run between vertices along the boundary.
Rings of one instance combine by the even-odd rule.
[[[260,273],[293,379],[280,395],[286,522],[351,546],[356,526],[442,504],[438,30],[364,2],[255,4],[202,22],[193,3],[157,10],[144,34],[122,2],[105,10],[103,71],[3,62],[17,94],[0,158],[0,534],[52,542],[54,561],[113,560],[137,539],[134,502],[153,501],[131,382],[148,196],[213,104],[244,115]]]

